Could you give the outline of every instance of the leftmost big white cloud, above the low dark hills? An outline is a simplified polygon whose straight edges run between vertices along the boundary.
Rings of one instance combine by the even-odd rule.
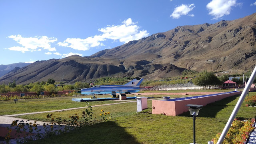
[[[8,36],[8,38],[12,38],[16,42],[18,42],[20,45],[23,46],[23,48],[26,48],[27,51],[35,51],[37,48],[43,48],[49,51],[56,51],[56,49],[52,48],[50,44],[58,40],[57,38],[48,38],[47,36],[23,38],[19,34],[17,36],[16,35]],[[38,49],[38,50],[41,50],[41,49]]]

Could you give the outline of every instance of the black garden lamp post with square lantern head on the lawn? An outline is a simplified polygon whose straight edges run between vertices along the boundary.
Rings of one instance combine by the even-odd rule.
[[[193,133],[194,133],[194,144],[196,144],[196,116],[199,113],[199,110],[203,105],[197,105],[197,104],[187,104],[186,106],[189,106],[188,110],[190,112],[190,115],[193,116]]]

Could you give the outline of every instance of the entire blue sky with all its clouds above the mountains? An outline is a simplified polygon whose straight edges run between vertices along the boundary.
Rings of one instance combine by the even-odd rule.
[[[256,0],[0,0],[0,64],[90,56],[176,26],[255,12]]]

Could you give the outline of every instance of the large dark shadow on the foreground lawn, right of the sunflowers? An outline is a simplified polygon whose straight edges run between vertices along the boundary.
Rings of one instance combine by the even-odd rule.
[[[116,122],[102,122],[28,144],[140,144]]]

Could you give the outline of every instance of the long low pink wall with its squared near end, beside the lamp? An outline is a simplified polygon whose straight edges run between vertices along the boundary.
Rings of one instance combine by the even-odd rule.
[[[177,101],[168,101],[168,100],[152,100],[152,114],[165,114],[168,116],[176,116],[188,111],[187,104],[199,104],[206,106],[209,103],[222,100],[229,96],[234,96],[237,94],[242,94],[242,91],[232,92],[229,94],[219,94],[215,96],[206,96],[202,98],[192,98],[188,100],[177,100]]]

